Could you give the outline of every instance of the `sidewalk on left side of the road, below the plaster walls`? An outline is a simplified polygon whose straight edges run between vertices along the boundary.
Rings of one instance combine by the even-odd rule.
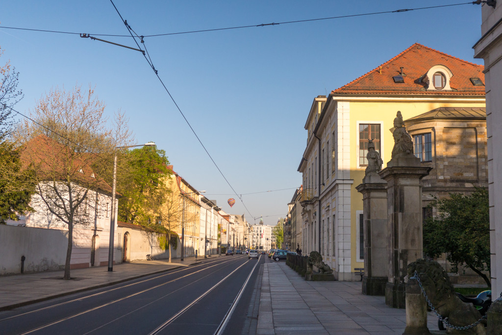
[[[217,259],[218,255],[207,260]],[[139,261],[113,265],[108,272],[107,266],[71,270],[72,280],[63,280],[64,271],[48,271],[32,274],[19,274],[0,277],[0,311],[31,303],[48,300],[80,291],[89,290],[123,281],[165,272],[201,263],[204,258],[185,257],[181,262],[168,260]]]

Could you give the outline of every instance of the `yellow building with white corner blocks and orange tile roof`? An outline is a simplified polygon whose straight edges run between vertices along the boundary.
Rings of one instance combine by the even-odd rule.
[[[338,280],[360,279],[354,269],[364,266],[363,207],[355,186],[364,177],[368,139],[375,143],[385,168],[394,146],[398,110],[405,120],[440,107],[484,110],[482,71],[481,65],[416,43],[327,97],[314,98],[298,167],[303,177],[305,255],[319,251]],[[422,151],[416,155],[424,164],[435,160],[434,141],[442,127],[414,128],[415,147]],[[482,128],[477,131],[486,137]]]

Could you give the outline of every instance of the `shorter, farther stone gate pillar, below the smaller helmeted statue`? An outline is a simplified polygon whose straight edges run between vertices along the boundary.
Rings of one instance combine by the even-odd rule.
[[[368,180],[369,179],[369,180]],[[385,295],[389,276],[387,256],[387,182],[379,175],[366,176],[356,187],[362,193],[364,276],[362,294]]]

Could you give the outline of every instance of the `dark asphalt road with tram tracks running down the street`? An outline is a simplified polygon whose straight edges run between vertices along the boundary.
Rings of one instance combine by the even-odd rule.
[[[222,257],[0,312],[0,334],[253,332],[264,258]]]

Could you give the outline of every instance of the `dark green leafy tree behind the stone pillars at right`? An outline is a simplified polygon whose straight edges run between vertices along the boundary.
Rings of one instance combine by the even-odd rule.
[[[470,195],[450,193],[449,198],[435,198],[429,204],[437,217],[424,222],[424,252],[429,257],[446,253],[453,265],[470,268],[491,286],[488,191],[476,188]]]

